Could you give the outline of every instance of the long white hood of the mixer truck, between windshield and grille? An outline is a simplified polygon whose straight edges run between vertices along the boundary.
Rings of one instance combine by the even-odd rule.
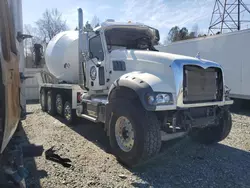
[[[111,81],[120,76],[137,72],[134,75],[140,76],[140,78],[146,81],[153,87],[154,91],[166,90],[176,91],[175,75],[171,68],[171,64],[174,61],[178,62],[191,62],[194,64],[203,65],[218,65],[214,62],[201,60],[193,57],[182,56],[177,54],[170,54],[158,51],[147,50],[126,50],[118,49],[113,50],[110,53],[110,60],[125,62],[126,69],[123,71],[113,71]],[[140,72],[138,74],[138,71]],[[148,76],[150,74],[151,76]],[[111,83],[112,83],[111,82]],[[164,89],[164,90],[165,90]]]

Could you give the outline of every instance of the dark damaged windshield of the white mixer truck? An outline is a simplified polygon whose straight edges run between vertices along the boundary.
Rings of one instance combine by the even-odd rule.
[[[105,32],[109,52],[115,49],[153,50],[154,33],[147,27],[109,28]]]

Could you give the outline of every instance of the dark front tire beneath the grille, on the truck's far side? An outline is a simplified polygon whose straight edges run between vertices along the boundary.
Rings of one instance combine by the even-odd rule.
[[[214,144],[224,140],[229,135],[231,128],[232,116],[228,110],[225,110],[219,120],[219,125],[193,130],[189,136],[201,144]]]

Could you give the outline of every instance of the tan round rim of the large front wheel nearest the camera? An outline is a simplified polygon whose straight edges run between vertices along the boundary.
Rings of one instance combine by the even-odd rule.
[[[128,118],[119,117],[115,124],[115,138],[121,150],[129,152],[134,146],[134,129]]]

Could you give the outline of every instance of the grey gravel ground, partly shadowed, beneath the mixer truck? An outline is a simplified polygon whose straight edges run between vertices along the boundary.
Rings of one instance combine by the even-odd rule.
[[[159,156],[130,170],[109,154],[102,125],[81,121],[74,127],[27,106],[23,121],[25,142],[55,146],[72,161],[65,168],[45,156],[26,159],[28,187],[250,187],[250,116],[233,114],[233,129],[227,139],[213,146],[188,138],[164,143]]]

